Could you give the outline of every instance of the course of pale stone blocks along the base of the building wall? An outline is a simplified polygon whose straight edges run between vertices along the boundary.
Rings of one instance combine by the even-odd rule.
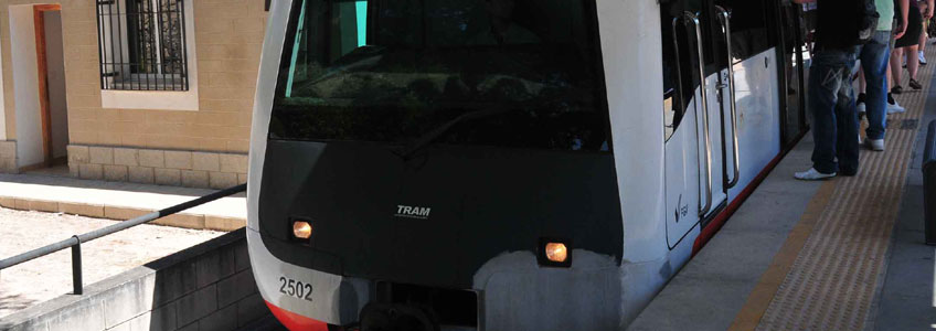
[[[72,177],[227,189],[247,182],[247,156],[108,146],[68,146]]]

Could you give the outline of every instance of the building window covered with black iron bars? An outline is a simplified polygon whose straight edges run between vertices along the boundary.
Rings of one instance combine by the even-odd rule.
[[[100,88],[189,90],[183,0],[97,0]]]

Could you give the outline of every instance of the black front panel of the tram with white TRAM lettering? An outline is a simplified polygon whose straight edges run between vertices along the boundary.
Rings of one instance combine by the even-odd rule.
[[[311,241],[290,239],[294,218],[311,221]],[[259,221],[285,261],[438,287],[470,288],[485,263],[535,254],[540,237],[617,263],[623,248],[614,159],[597,152],[432,146],[404,160],[381,145],[270,140]]]

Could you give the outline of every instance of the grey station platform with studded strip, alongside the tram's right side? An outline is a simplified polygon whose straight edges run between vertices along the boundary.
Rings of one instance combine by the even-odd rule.
[[[889,116],[884,152],[862,149],[858,175],[794,180],[811,164],[807,135],[629,330],[936,328],[919,154],[934,66],[895,96],[907,111]]]

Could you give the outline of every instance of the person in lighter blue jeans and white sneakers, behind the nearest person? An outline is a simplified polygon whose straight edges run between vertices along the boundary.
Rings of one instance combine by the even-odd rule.
[[[901,2],[902,6],[907,6],[907,0],[901,0]],[[866,94],[858,95],[858,111],[862,113],[861,108],[864,108],[868,117],[864,143],[871,150],[883,151],[887,120],[887,63],[891,56],[891,36],[902,36],[906,30],[906,24],[901,24],[894,29],[893,0],[875,0],[874,6],[880,15],[878,31],[874,32],[868,43],[860,46],[858,53],[864,77],[863,85],[866,90]]]

